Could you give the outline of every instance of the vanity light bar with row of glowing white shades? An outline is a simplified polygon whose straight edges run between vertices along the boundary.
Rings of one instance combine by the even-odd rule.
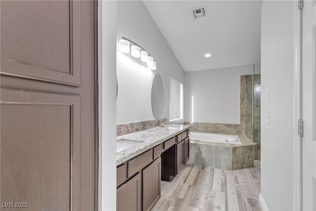
[[[130,45],[131,47],[129,48]],[[156,62],[154,61],[154,58],[139,44],[122,37],[122,39],[118,41],[118,50],[123,53],[130,52],[133,57],[140,58],[142,62],[145,62],[149,69],[156,70]]]

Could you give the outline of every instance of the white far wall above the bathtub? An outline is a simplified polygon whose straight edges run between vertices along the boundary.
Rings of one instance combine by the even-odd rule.
[[[240,76],[252,74],[253,65],[186,72],[185,121],[239,124]]]

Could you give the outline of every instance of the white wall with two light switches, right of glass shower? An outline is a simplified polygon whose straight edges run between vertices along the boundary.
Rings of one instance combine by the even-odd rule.
[[[293,210],[294,4],[262,4],[261,195],[269,210]],[[270,124],[264,118],[268,111]]]

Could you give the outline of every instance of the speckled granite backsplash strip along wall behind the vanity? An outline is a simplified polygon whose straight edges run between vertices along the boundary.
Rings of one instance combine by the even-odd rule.
[[[167,118],[119,124],[117,125],[117,136],[157,127],[158,123],[165,122],[167,122]]]

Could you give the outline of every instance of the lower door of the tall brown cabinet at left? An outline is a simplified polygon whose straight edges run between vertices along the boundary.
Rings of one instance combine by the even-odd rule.
[[[0,93],[1,201],[28,202],[23,210],[79,209],[80,97]]]

